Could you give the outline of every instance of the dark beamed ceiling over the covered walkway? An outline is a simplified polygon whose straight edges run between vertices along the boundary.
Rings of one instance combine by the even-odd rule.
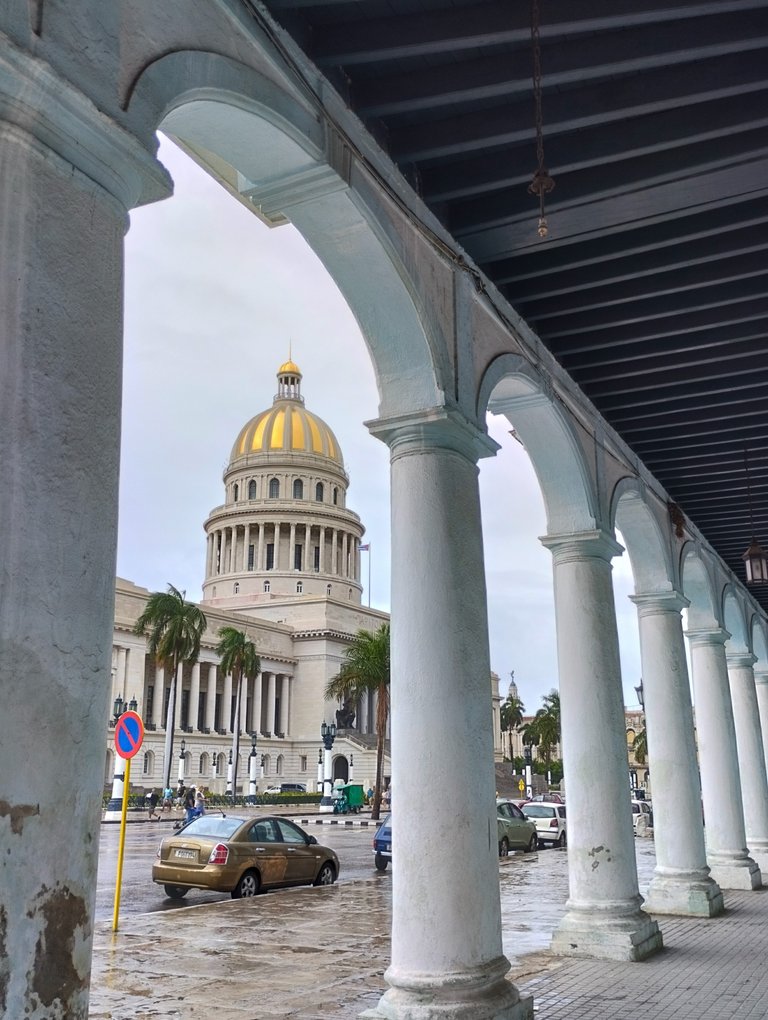
[[[768,0],[265,6],[744,578],[747,454],[768,545]]]

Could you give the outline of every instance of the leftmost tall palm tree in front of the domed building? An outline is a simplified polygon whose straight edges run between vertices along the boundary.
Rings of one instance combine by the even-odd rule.
[[[153,592],[134,627],[134,633],[148,634],[149,654],[170,676],[168,710],[165,716],[164,789],[170,785],[178,664],[197,662],[200,642],[207,626],[202,609],[193,602],[187,602],[186,595],[186,592],[180,592],[172,584],[168,584],[167,592]]]

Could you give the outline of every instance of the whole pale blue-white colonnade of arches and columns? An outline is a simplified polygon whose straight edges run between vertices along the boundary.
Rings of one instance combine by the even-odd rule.
[[[379,415],[368,427],[392,465],[398,867],[391,987],[373,1015],[531,1015],[506,980],[501,944],[477,489],[478,459],[496,452],[489,409],[509,418],[530,455],[553,555],[570,843],[570,899],[555,950],[637,960],[662,938],[638,894],[626,796],[616,527],[635,578],[654,762],[651,906],[712,916],[721,889],[755,887],[768,863],[768,720],[760,725],[768,656],[765,620],[748,594],[694,528],[683,522],[677,533],[654,479],[482,286],[311,67],[237,5],[183,21],[127,2],[114,24],[103,11],[98,19],[97,6],[81,4],[68,21],[55,10],[48,21],[30,20],[20,2],[0,15],[0,314],[9,338],[0,371],[8,465],[0,823],[13,851],[0,902],[6,1008],[31,1020],[48,1015],[39,972],[47,964],[36,947],[48,945],[55,924],[68,975],[57,992],[63,1012],[88,1012],[110,694],[122,234],[132,207],[169,193],[154,158],[158,128],[259,215],[297,226],[346,296],[375,369]],[[99,46],[84,62],[80,40],[94,23]],[[135,31],[140,23],[146,31]],[[45,427],[35,424],[41,408]],[[47,742],[34,773],[5,768],[23,759],[33,724],[64,740]],[[446,788],[451,812],[433,797]],[[83,853],[62,860],[62,844]],[[33,856],[34,872],[25,866]]]

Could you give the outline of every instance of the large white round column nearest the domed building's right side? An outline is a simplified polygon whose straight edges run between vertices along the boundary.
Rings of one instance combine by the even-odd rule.
[[[506,980],[501,940],[476,465],[491,444],[458,415],[377,422],[371,430],[388,443],[392,460],[398,866],[385,975],[391,987],[363,1015],[523,1020],[532,1016],[530,1000],[520,1001]],[[450,790],[450,811],[436,790]]]

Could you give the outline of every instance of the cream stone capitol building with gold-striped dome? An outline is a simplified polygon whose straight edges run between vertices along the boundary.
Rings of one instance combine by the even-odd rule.
[[[354,706],[354,718],[338,717],[341,706],[326,703],[323,692],[358,630],[377,630],[389,615],[362,604],[365,529],[347,507],[349,477],[339,442],[305,407],[301,380],[293,361],[280,366],[271,407],[235,440],[223,502],[204,525],[200,607],[208,626],[198,662],[178,672],[171,778],[184,776],[211,793],[225,790],[235,717],[233,677],[215,653],[222,626],[244,630],[261,657],[260,675],[243,686],[239,793],[249,793],[251,734],[261,790],[281,782],[317,788],[323,721],[343,723],[332,749],[334,778],[367,787],[375,776],[373,698]],[[148,655],[146,638],[133,632],[149,594],[117,578],[112,649],[112,700],[135,700],[145,722],[132,769],[134,787],[145,788],[162,785],[169,695],[169,677]],[[113,724],[106,785],[115,769]]]

